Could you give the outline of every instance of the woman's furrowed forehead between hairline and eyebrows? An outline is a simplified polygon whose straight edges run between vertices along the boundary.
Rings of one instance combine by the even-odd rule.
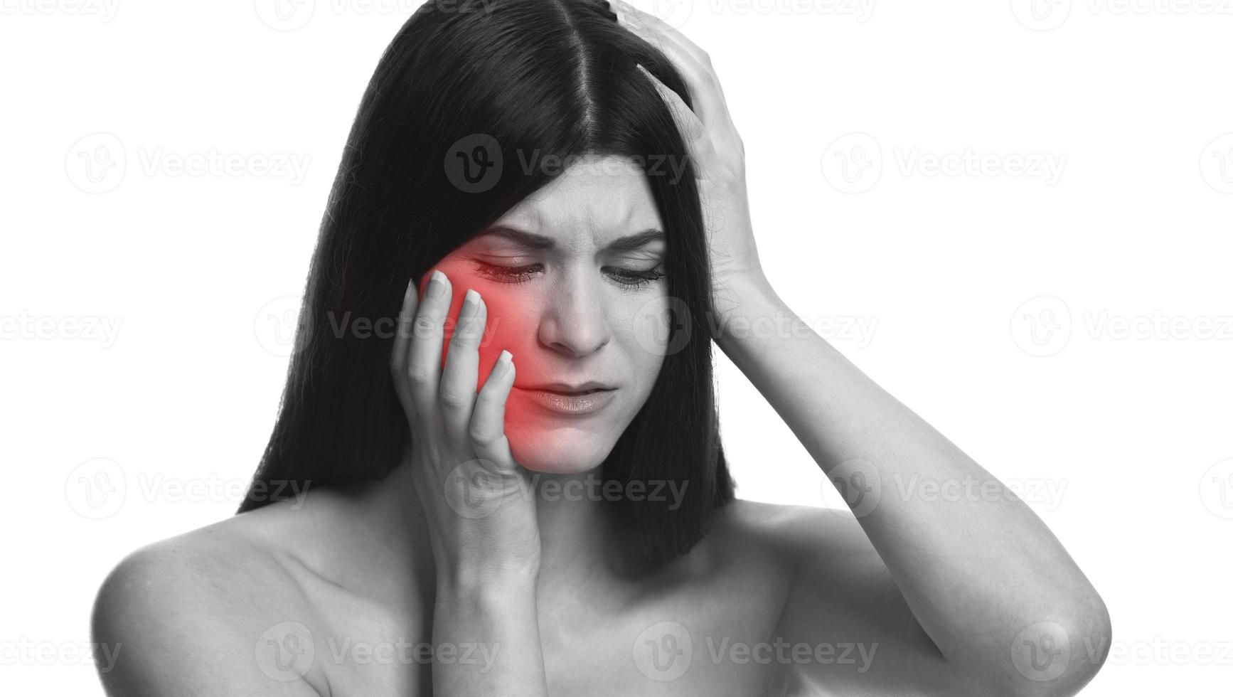
[[[646,228],[663,229],[651,185],[637,163],[620,155],[587,155],[497,221],[561,247],[598,245]]]

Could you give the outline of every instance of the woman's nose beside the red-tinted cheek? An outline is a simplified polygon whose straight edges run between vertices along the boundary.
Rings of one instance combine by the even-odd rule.
[[[539,340],[571,358],[596,353],[612,339],[600,279],[566,274],[552,289],[540,320]]]

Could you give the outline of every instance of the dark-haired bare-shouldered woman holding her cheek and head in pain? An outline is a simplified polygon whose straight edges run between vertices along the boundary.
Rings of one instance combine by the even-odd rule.
[[[795,316],[707,54],[628,5],[451,9],[363,100],[242,514],[104,584],[109,692],[1083,687],[1110,619],[1042,522],[815,333],[750,331]],[[734,497],[711,340],[854,516]]]

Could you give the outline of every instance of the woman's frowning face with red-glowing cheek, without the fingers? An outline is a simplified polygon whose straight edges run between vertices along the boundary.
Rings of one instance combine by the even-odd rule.
[[[633,160],[587,157],[433,266],[454,287],[445,350],[475,289],[488,308],[478,385],[513,354],[506,435],[524,468],[599,465],[650,395],[668,338],[662,231]]]

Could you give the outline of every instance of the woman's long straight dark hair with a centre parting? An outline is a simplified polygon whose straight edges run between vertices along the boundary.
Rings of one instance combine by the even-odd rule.
[[[614,503],[649,560],[673,559],[702,539],[734,485],[719,442],[710,265],[694,169],[671,112],[635,65],[686,104],[690,95],[667,57],[620,26],[607,2],[465,7],[422,6],[369,83],[313,253],[279,417],[238,512],[268,503],[274,482],[302,491],[381,479],[401,461],[413,434],[390,377],[392,338],[338,332],[340,317],[397,317],[412,279],[418,284],[560,174],[525,167],[531,154],[625,155],[644,164],[666,227],[668,296],[687,311],[602,475],[623,487],[651,479],[684,487],[681,501]],[[492,165],[486,178],[459,169],[467,165],[459,158],[472,155]],[[673,176],[665,162],[684,169]]]

